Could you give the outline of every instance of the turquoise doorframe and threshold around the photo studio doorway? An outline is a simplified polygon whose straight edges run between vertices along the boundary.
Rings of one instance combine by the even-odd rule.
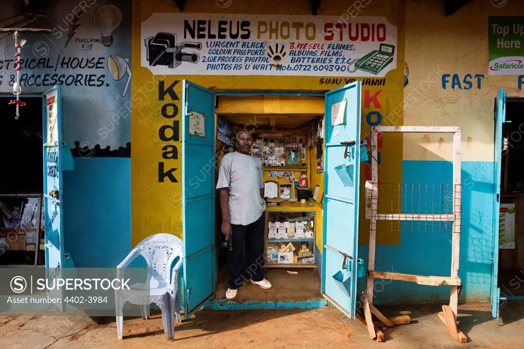
[[[321,92],[320,92],[321,91]],[[215,92],[215,106],[216,97],[218,96],[302,96],[302,97],[322,97],[325,99],[325,93],[330,90],[320,90],[319,92],[296,92],[296,91],[276,91],[276,90],[220,90]],[[216,109],[216,108],[215,108]],[[217,113],[215,111],[215,128]],[[215,142],[216,144],[216,142]],[[216,154],[216,146],[215,146]],[[216,222],[215,222],[216,224]],[[216,226],[215,226],[216,230]],[[324,228],[322,229],[322,239],[324,239]],[[216,236],[216,235],[215,235]],[[215,244],[219,242],[215,241]],[[316,242],[315,242],[316,244]],[[324,256],[322,256],[324,258]],[[216,268],[219,268],[217,265]],[[320,275],[321,280],[322,275]],[[322,283],[322,282],[321,282]],[[267,301],[267,302],[247,302],[247,303],[236,303],[235,301],[227,301],[224,303],[222,299],[217,300],[217,297],[212,298],[202,309],[211,310],[252,310],[252,309],[318,309],[328,308],[328,301],[322,297],[321,290],[319,290],[319,298],[309,301],[297,301],[297,302],[279,302],[279,301]],[[216,296],[216,295],[215,295]]]

